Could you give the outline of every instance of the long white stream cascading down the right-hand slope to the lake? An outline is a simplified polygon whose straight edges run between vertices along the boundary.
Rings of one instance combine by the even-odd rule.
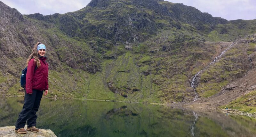
[[[193,102],[196,101],[197,98],[198,98],[198,94],[197,94],[197,92],[196,92],[196,87],[195,87],[196,76],[198,76],[198,75],[200,74],[200,72],[202,72],[205,68],[208,68],[212,63],[216,62],[217,59],[220,58],[220,56],[222,56],[229,48],[233,47],[236,43],[237,43],[237,41],[234,41],[225,51],[223,51],[218,57],[216,57],[216,58],[215,58],[210,64],[208,64],[206,67],[204,67],[204,68],[201,69],[199,72],[197,72],[196,75],[193,77],[192,82],[191,82],[191,87],[194,89],[195,94],[196,94],[196,96],[195,96]],[[251,60],[250,60],[250,61],[251,61]]]

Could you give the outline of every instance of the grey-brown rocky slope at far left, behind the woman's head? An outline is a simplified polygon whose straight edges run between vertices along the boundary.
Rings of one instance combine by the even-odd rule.
[[[71,68],[82,69],[90,73],[100,70],[99,57],[93,55],[85,43],[74,44],[66,37],[60,37],[56,33],[47,32],[54,28],[56,22],[37,22],[20,14],[0,2],[0,67],[1,92],[4,93],[9,87],[18,85],[21,70],[26,66],[26,59],[31,53],[33,45],[41,41],[47,46],[48,63],[51,70],[63,71],[61,63]],[[34,18],[44,19],[40,14]],[[58,14],[55,14],[58,16]],[[55,18],[54,15],[47,19]],[[31,17],[31,18],[32,18]],[[57,32],[53,30],[53,32]],[[86,48],[87,47],[87,48]],[[57,50],[57,48],[60,48]],[[72,52],[71,52],[72,51]],[[86,55],[86,56],[84,56]]]

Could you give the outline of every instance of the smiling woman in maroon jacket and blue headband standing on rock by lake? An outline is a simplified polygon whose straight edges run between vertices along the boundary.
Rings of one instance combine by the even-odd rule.
[[[36,112],[40,106],[41,98],[48,94],[48,63],[46,62],[46,47],[37,42],[27,60],[26,93],[23,109],[16,122],[15,131],[21,134],[27,133],[24,129],[28,120],[28,131],[39,132],[36,128]]]

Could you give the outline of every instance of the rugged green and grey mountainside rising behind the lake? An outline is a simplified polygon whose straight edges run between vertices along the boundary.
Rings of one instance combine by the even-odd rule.
[[[3,95],[23,94],[20,71],[37,41],[47,47],[51,97],[192,102],[201,69],[200,99],[254,69],[256,20],[228,21],[163,0],[92,0],[47,16],[21,15],[2,2],[0,9]]]

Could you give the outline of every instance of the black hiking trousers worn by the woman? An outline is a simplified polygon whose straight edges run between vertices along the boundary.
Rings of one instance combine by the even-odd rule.
[[[33,93],[31,95],[25,92],[24,105],[16,122],[15,130],[24,127],[27,120],[28,127],[36,126],[36,112],[38,111],[38,108],[40,106],[43,92],[44,91],[33,90]]]

